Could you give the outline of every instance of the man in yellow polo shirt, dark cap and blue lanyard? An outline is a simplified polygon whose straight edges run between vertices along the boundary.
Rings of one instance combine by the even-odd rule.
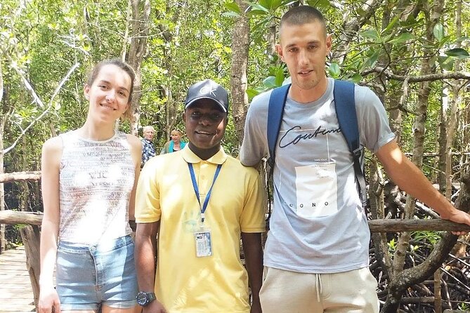
[[[183,115],[189,144],[145,164],[135,255],[143,312],[261,313],[264,192],[256,170],[221,147],[227,114],[224,88],[209,79],[193,84]]]

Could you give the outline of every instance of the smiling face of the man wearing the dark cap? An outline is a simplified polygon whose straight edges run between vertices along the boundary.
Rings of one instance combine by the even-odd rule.
[[[221,107],[212,100],[200,99],[185,110],[183,117],[192,151],[204,155],[218,152],[227,126],[227,114]]]

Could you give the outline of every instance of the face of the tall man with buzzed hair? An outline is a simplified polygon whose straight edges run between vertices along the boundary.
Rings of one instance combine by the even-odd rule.
[[[292,86],[302,90],[314,89],[326,81],[325,62],[332,48],[331,36],[325,35],[321,22],[303,25],[282,25],[278,54],[289,69]]]

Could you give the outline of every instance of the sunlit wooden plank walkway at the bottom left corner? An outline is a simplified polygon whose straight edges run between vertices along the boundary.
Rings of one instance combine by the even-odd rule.
[[[33,299],[25,248],[4,251],[0,254],[0,312],[34,312]]]

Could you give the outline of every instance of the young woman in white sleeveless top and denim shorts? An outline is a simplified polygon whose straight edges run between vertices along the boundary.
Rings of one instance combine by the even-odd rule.
[[[138,312],[129,218],[142,144],[115,130],[134,76],[121,60],[98,63],[84,86],[85,124],[44,143],[39,312]]]

